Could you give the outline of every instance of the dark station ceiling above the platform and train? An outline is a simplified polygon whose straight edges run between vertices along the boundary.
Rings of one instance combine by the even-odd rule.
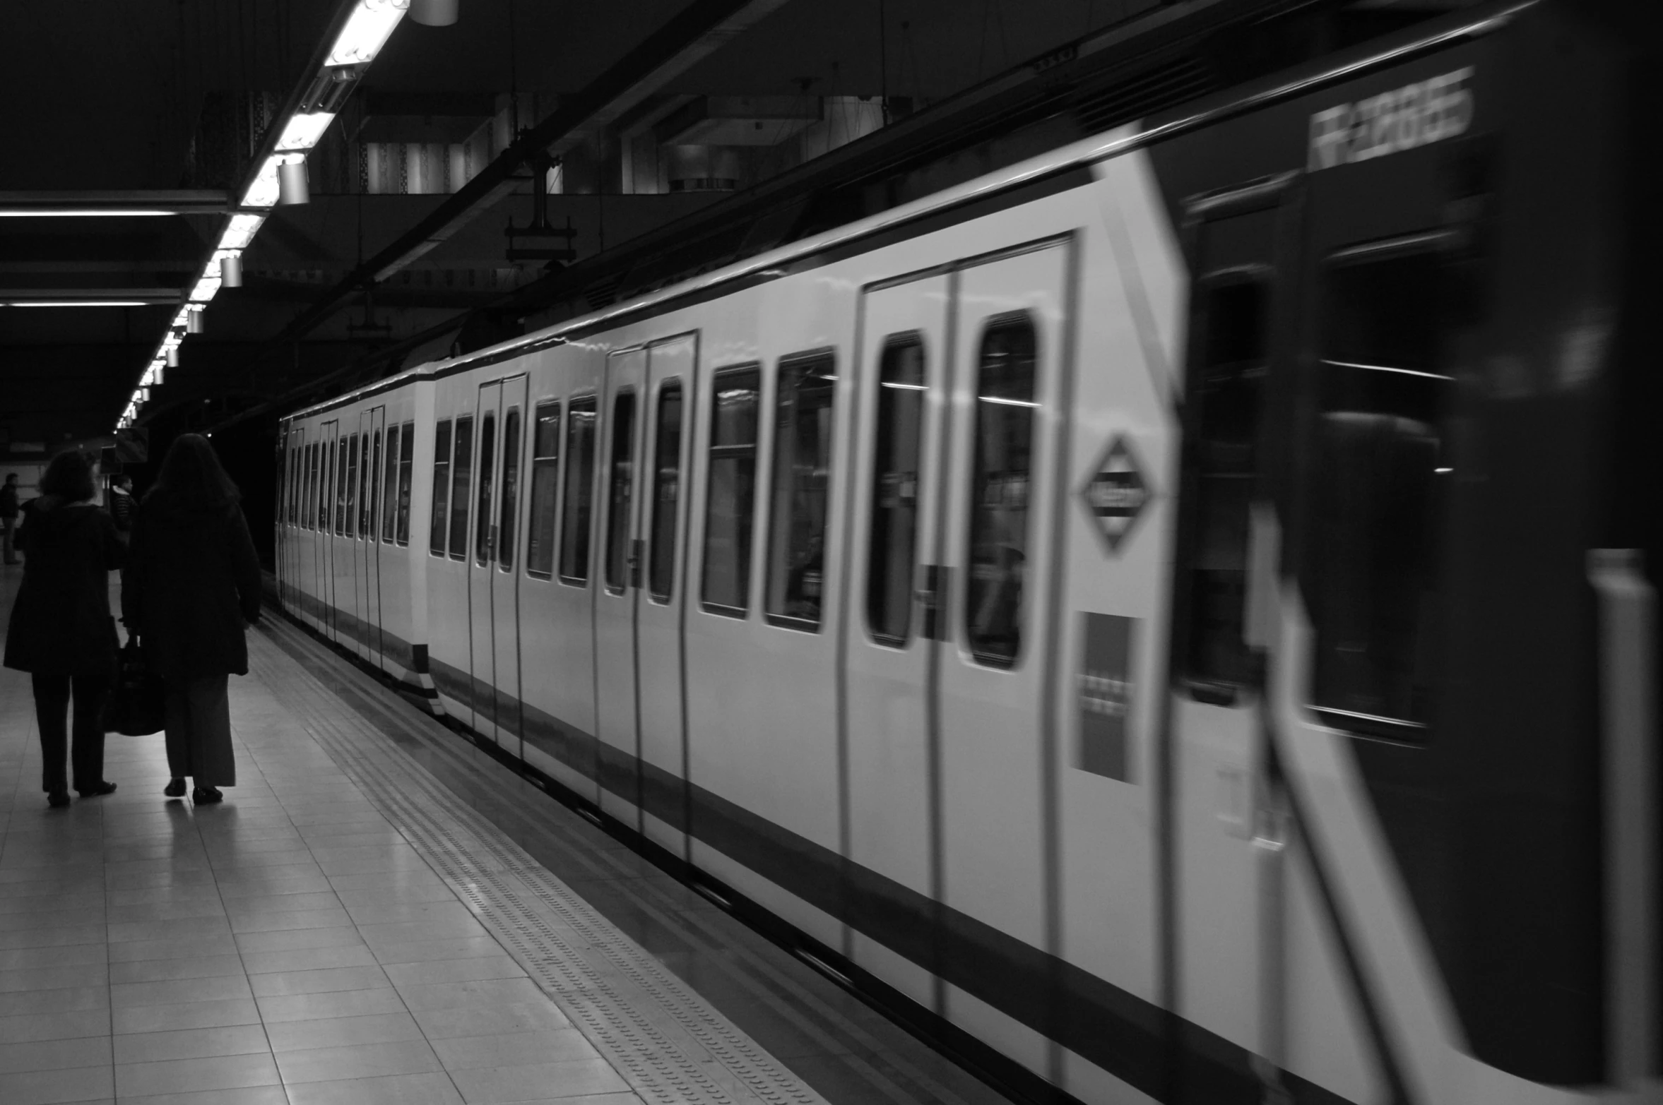
[[[261,128],[313,71],[349,2],[8,5],[0,93],[28,108],[0,121],[0,209],[20,193],[241,194]],[[452,27],[406,18],[309,156],[311,203],[273,211],[244,254],[243,286],[208,306],[205,332],[185,341],[140,424],[210,425],[376,351],[414,362],[514,332],[529,312],[492,304],[562,264],[649,241],[1157,7],[461,0]],[[607,81],[622,83],[609,93]],[[486,178],[494,161],[516,160],[504,150],[519,128],[560,111],[572,125],[557,128],[547,206],[554,226],[570,223],[572,258],[509,259],[511,244],[527,244],[504,229],[530,218],[532,171],[517,160],[494,188]],[[111,430],[223,219],[0,218],[0,302],[155,301],[0,307],[0,459]],[[422,219],[442,223],[429,234],[437,246],[419,256],[401,246],[378,281],[354,276]]]

